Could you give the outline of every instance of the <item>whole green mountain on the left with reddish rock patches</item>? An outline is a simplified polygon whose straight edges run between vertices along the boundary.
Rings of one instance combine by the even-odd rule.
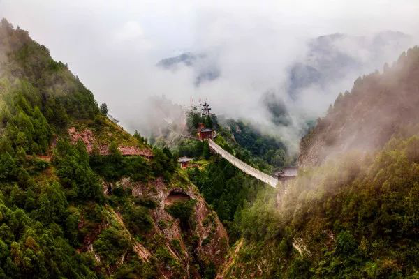
[[[6,20],[0,63],[0,277],[214,277],[228,235],[177,157]]]

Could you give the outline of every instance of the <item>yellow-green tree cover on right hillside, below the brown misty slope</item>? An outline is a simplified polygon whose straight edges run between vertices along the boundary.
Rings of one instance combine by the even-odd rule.
[[[393,139],[374,158],[353,153],[306,169],[280,204],[276,190],[259,193],[242,211],[243,235],[248,243],[267,243],[262,247],[278,243],[270,248],[286,274],[278,278],[413,276],[419,248],[416,142],[417,136]],[[296,240],[302,255],[291,246]],[[261,251],[253,256],[263,257]]]

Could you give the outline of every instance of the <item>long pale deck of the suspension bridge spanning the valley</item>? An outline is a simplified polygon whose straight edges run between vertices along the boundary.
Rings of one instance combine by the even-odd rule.
[[[277,186],[278,179],[270,176],[269,174],[265,174],[265,172],[260,172],[259,169],[255,169],[254,167],[247,165],[247,163],[244,163],[242,160],[235,158],[235,156],[222,149],[221,146],[216,144],[213,140],[209,139],[208,144],[210,144],[212,150],[214,150],[224,159],[228,160],[228,162],[240,169],[242,172],[249,174],[260,181],[263,181],[272,187]]]

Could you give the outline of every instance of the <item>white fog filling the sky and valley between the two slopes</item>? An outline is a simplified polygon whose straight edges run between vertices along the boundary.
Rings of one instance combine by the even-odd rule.
[[[418,42],[417,1],[347,2],[0,0],[0,17],[68,63],[127,130],[147,135],[161,122],[152,96],[179,105],[207,98],[214,113],[251,119],[296,150],[307,121],[358,75]],[[409,36],[377,36],[388,30]],[[318,39],[334,33],[346,35]],[[206,59],[156,66],[184,52]],[[219,77],[197,85],[205,67]],[[319,73],[307,82],[310,67]]]

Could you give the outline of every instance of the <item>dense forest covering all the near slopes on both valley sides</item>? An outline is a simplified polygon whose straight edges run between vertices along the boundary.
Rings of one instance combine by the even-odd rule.
[[[419,278],[418,70],[414,47],[356,80],[272,188],[196,133],[265,172],[293,165],[281,140],[192,113],[175,148],[152,146],[2,20],[0,278]]]

